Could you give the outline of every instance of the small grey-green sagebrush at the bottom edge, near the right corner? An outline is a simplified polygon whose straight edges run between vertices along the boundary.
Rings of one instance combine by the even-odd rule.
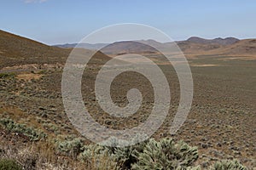
[[[212,167],[211,170],[246,170],[247,167],[241,165],[239,161],[217,161]]]

